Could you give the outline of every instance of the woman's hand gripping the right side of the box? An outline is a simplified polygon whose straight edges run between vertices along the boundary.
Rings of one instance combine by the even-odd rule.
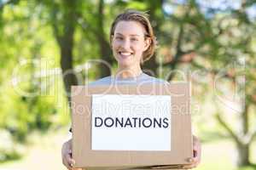
[[[195,168],[201,161],[201,142],[193,135],[193,158],[190,160],[189,165],[183,166],[183,169]]]

